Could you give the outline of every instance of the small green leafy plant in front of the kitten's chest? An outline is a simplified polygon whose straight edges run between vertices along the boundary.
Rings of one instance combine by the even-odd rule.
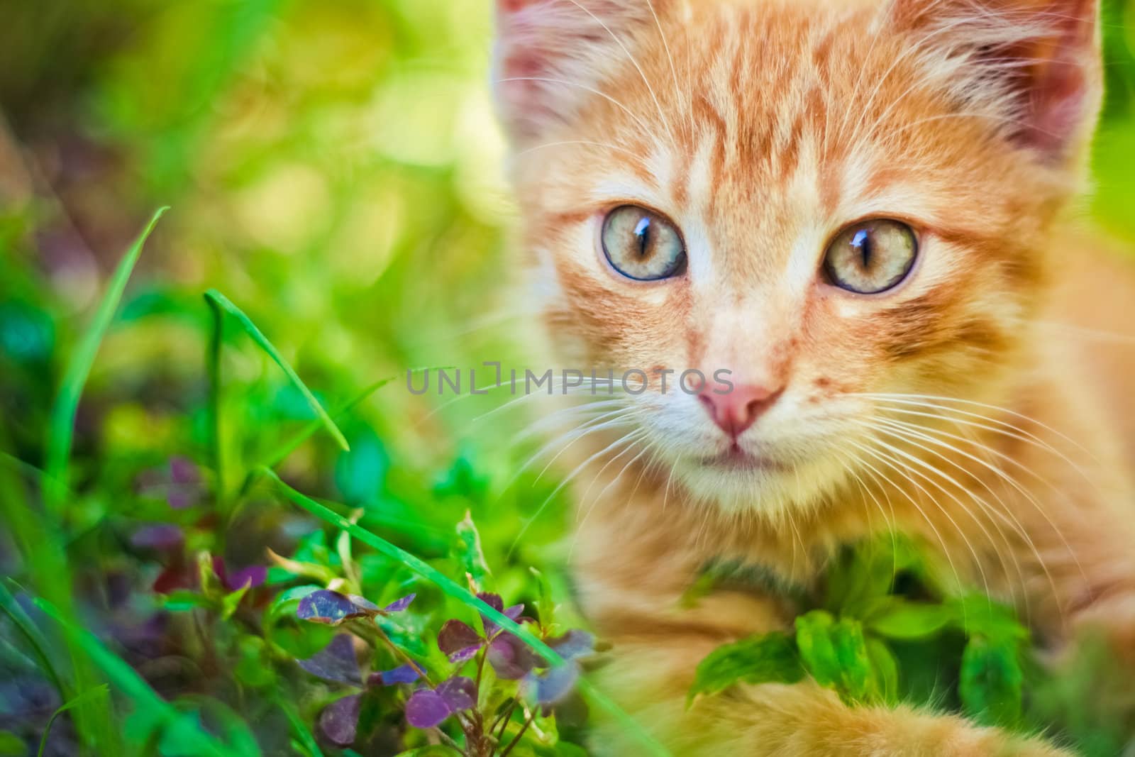
[[[982,723],[1027,727],[1023,683],[1035,670],[1028,630],[1011,608],[949,590],[947,575],[906,539],[848,549],[821,591],[794,597],[801,614],[793,633],[714,650],[689,699],[808,675],[852,705],[938,701]]]

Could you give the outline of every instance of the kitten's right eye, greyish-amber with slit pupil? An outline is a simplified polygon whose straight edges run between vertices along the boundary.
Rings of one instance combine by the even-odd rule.
[[[824,258],[832,284],[858,294],[898,286],[918,256],[918,238],[901,221],[863,221],[840,233]]]

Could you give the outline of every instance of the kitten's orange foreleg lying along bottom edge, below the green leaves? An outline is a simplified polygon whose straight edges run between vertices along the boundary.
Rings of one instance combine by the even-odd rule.
[[[814,683],[741,685],[686,707],[699,659],[717,645],[704,636],[615,637],[616,662],[602,683],[678,757],[864,755],[1058,757],[1040,740],[911,708],[848,707]],[[600,727],[598,755],[641,754],[617,725]]]

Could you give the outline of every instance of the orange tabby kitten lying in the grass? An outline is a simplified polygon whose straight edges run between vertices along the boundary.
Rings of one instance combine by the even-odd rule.
[[[1135,364],[1095,338],[1132,329],[1135,279],[1074,219],[1095,0],[497,2],[550,343],[650,376],[582,457],[574,560],[612,691],[678,755],[1058,754],[810,683],[687,710],[708,651],[794,612],[679,597],[713,557],[808,584],[896,528],[1046,646],[1095,624],[1135,657]]]

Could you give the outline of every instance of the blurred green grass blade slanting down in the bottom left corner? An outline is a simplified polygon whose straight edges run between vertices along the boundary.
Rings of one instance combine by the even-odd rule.
[[[67,638],[86,653],[87,657],[110,679],[115,688],[134,703],[138,713],[148,722],[163,729],[178,724],[178,721],[184,717],[183,713],[158,696],[158,692],[151,689],[150,684],[134,672],[133,667],[107,649],[93,633],[67,622],[59,608],[45,599],[35,599],[35,606],[59,623]],[[185,723],[179,724],[177,735],[182,739],[179,746],[193,749],[192,754],[212,757],[242,757],[210,733],[197,727],[188,727]]]

